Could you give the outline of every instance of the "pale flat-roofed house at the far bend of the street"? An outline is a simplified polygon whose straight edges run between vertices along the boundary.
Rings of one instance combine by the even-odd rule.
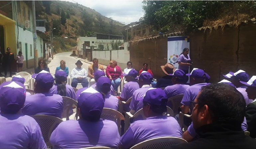
[[[93,33],[91,37],[78,37],[76,41],[78,56],[85,58],[88,52],[93,50],[113,50],[111,42],[121,42],[123,44],[124,36]]]

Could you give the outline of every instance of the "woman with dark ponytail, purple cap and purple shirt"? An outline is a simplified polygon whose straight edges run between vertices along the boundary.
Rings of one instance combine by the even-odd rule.
[[[50,89],[49,92],[53,94],[58,94],[61,96],[67,96],[76,100],[76,94],[74,89],[66,83],[67,83],[66,72],[64,72],[63,70],[56,71],[55,84],[53,85],[53,87]]]

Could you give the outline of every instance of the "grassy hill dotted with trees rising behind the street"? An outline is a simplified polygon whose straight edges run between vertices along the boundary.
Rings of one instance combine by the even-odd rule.
[[[126,35],[122,27],[124,24],[88,7],[67,1],[42,2],[44,11],[37,12],[37,19],[47,20],[47,31],[56,28],[53,30],[55,53],[75,46],[78,36],[90,36],[94,32]]]

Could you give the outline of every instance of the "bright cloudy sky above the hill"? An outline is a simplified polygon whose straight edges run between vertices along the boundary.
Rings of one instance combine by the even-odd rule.
[[[68,0],[94,9],[101,15],[129,24],[144,15],[141,0]]]

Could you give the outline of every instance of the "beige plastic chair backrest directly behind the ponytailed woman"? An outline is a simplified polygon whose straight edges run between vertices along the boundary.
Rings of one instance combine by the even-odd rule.
[[[73,105],[77,107],[77,101],[66,96],[62,96],[62,99],[63,99],[62,118],[66,118],[66,120],[69,120],[69,110],[73,109]]]

